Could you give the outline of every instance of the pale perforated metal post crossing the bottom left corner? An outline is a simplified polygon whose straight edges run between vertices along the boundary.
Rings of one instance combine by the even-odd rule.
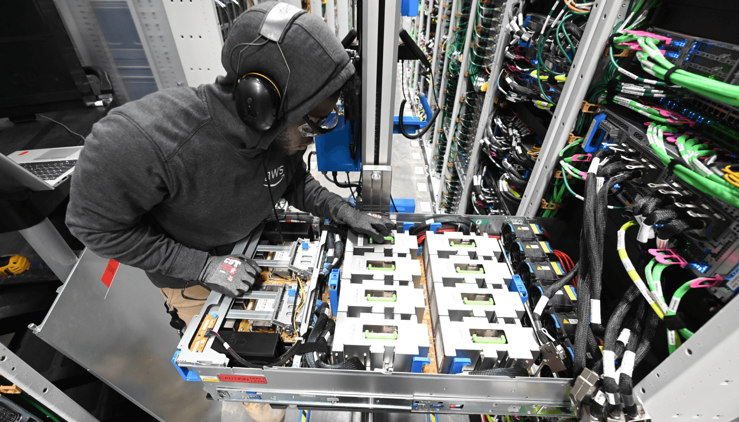
[[[46,409],[59,415],[68,422],[98,422],[95,416],[90,415],[79,404],[64,394],[61,389],[51,384],[49,380],[38,373],[29,364],[18,358],[18,355],[0,344],[0,375],[7,381],[16,384],[34,401],[38,401]],[[10,421],[11,419],[3,419]],[[16,419],[12,419],[15,421]]]

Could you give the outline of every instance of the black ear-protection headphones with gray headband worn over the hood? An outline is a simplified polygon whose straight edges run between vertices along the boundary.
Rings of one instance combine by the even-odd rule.
[[[251,43],[236,44],[234,49],[231,50],[231,54],[237,47],[245,46],[241,50],[241,52],[244,52],[248,47],[261,46],[267,44],[268,41],[274,41],[279,48],[279,44],[282,43],[293,21],[303,13],[307,12],[282,1],[275,4],[265,14],[265,18],[259,26],[259,36]],[[267,38],[267,40],[255,44],[255,41],[262,37]],[[241,52],[239,52],[239,67],[241,66]],[[282,54],[281,48],[280,53]],[[285,55],[282,55],[282,57],[284,59]],[[290,81],[290,67],[287,66],[287,60],[285,60],[285,66],[287,67],[287,81]],[[236,69],[236,75],[240,75],[239,69]],[[246,126],[259,132],[265,132],[275,126],[276,122],[282,118],[285,92],[280,92],[277,84],[267,75],[252,72],[236,80],[234,102],[236,103],[236,113]]]

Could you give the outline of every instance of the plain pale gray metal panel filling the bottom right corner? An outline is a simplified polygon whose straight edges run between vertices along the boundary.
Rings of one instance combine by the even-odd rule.
[[[735,299],[634,387],[652,421],[739,418],[738,320]]]

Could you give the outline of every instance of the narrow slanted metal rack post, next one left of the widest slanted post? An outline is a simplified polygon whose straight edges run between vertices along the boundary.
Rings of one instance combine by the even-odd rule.
[[[508,45],[510,39],[510,33],[504,30],[505,25],[508,24],[508,10],[517,0],[508,0],[505,4],[505,11],[503,12],[503,20],[500,22],[500,33],[498,35],[498,42],[495,47],[495,54],[490,68],[490,77],[488,78],[488,90],[485,93],[485,101],[483,102],[483,109],[480,110],[480,120],[477,123],[477,132],[474,135],[474,145],[472,146],[472,153],[469,158],[469,166],[467,167],[467,177],[464,181],[464,187],[462,189],[462,195],[460,196],[460,205],[457,207],[457,214],[466,214],[466,204],[469,202],[470,192],[472,190],[472,178],[471,174],[476,174],[477,169],[480,165],[480,140],[485,134],[485,128],[487,126],[488,118],[490,118],[493,112],[493,101],[498,92],[497,75],[500,73],[500,68],[503,67],[503,58],[505,57],[505,47]]]

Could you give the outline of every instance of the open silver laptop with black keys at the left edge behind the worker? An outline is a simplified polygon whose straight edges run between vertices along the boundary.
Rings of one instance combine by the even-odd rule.
[[[0,188],[50,191],[75,171],[82,146],[27,149],[0,154]]]

